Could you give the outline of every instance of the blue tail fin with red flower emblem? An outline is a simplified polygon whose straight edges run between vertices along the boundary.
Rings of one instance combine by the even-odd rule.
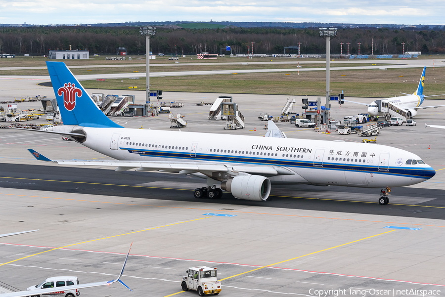
[[[108,119],[63,62],[46,62],[64,125],[122,127]]]

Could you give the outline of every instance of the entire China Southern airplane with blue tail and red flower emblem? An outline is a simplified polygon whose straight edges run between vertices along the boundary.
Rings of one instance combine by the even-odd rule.
[[[223,189],[255,201],[267,200],[274,183],[385,188],[378,201],[388,204],[386,188],[436,174],[419,156],[378,144],[124,128],[99,110],[63,62],[46,65],[64,125],[44,132],[117,161],[50,160],[30,150],[38,160],[193,174],[207,179],[206,187],[195,189],[196,198],[218,198]]]

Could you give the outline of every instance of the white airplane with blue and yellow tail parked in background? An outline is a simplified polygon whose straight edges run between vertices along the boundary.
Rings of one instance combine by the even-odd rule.
[[[427,108],[431,108],[431,107],[438,108],[441,106],[445,106],[445,105],[421,106],[424,99],[427,97],[436,97],[436,96],[444,96],[445,95],[445,94],[431,95],[431,96],[423,95],[423,86],[425,83],[425,71],[426,71],[426,67],[423,67],[423,72],[422,72],[422,76],[420,77],[419,85],[417,86],[416,91],[412,94],[401,93],[406,96],[379,99],[379,100],[372,101],[370,104],[349,101],[349,100],[344,100],[344,101],[368,106],[368,114],[370,116],[383,116],[388,109],[388,103],[391,103],[392,105],[405,111],[408,118],[412,118],[412,117],[416,116],[417,110],[420,108],[427,109]]]

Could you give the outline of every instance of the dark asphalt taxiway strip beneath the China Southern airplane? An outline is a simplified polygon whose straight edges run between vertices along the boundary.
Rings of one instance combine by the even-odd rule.
[[[379,189],[309,185],[272,185],[270,198],[265,202],[238,200],[229,193],[222,199],[197,200],[192,191],[205,186],[205,180],[190,175],[6,163],[0,164],[0,171],[0,187],[3,188],[205,202],[215,204],[214,208],[219,208],[219,204],[233,204],[445,219],[444,190],[397,188],[387,206],[377,202]]]

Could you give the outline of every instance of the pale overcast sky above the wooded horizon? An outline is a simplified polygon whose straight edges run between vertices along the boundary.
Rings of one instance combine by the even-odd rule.
[[[445,24],[444,0],[0,0],[2,24],[156,21]]]

